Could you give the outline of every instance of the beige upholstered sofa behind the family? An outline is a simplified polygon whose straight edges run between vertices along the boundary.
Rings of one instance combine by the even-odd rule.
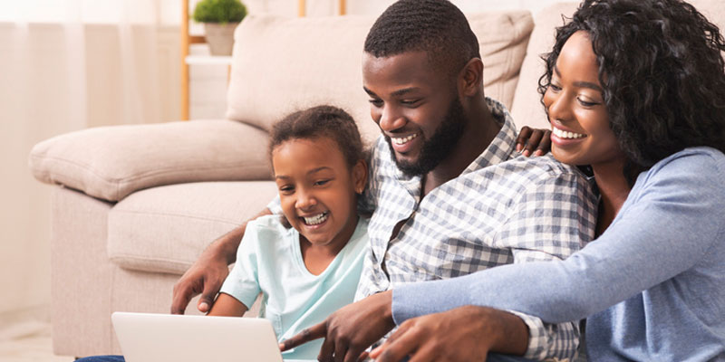
[[[697,4],[720,22],[718,2]],[[468,15],[486,93],[519,127],[547,127],[538,56],[574,9],[555,5],[536,20],[527,11]],[[35,146],[34,176],[54,185],[56,354],[118,353],[112,311],[169,311],[174,282],[205,246],[275,195],[266,130],[285,113],[330,103],[349,110],[368,141],[377,136],[361,73],[373,21],[248,16],[237,28],[227,119],[86,129]]]

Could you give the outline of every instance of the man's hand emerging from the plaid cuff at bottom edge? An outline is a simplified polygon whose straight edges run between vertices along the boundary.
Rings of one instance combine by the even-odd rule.
[[[403,322],[370,357],[378,362],[485,361],[489,351],[523,355],[528,329],[502,310],[466,306]]]

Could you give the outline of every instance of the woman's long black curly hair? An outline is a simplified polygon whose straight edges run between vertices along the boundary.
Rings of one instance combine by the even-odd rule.
[[[585,0],[556,29],[543,56],[542,97],[564,43],[588,33],[610,127],[627,162],[639,171],[683,148],[725,152],[725,41],[718,27],[681,0]]]

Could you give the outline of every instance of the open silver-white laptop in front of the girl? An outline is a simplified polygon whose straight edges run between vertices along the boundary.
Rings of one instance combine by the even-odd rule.
[[[267,319],[114,312],[111,320],[127,362],[283,361]]]

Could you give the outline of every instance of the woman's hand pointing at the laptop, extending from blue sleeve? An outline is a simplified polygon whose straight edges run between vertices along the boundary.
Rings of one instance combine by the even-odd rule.
[[[335,311],[322,323],[285,340],[279,348],[284,351],[324,338],[318,360],[355,362],[363,356],[366,348],[395,326],[391,303],[391,291],[371,295]]]

